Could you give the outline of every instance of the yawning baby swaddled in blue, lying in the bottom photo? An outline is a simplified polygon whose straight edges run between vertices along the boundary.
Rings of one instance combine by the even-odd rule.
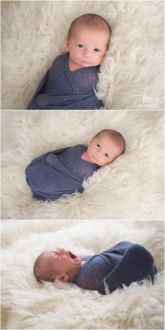
[[[58,278],[100,294],[145,278],[153,282],[156,273],[150,252],[131,242],[119,242],[101,254],[82,258],[66,249],[52,249],[43,252],[34,263],[38,281],[54,282]]]

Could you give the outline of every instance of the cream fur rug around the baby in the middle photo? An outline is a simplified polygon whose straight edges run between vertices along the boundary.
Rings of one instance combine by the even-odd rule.
[[[3,111],[2,219],[164,219],[163,111]],[[24,169],[64,146],[87,144],[103,128],[118,130],[125,153],[55,202],[31,197]]]

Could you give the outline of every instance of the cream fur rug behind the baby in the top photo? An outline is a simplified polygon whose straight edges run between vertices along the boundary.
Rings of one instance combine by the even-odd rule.
[[[103,109],[164,109],[164,1],[1,1],[2,109],[27,109],[84,13],[112,27],[99,82]]]

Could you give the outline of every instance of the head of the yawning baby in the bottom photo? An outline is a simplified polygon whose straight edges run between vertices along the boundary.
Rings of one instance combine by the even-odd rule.
[[[34,263],[34,275],[38,281],[71,282],[82,261],[70,251],[63,248],[48,250],[40,254]]]

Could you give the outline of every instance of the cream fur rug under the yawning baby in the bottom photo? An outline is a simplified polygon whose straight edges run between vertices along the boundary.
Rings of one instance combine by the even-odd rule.
[[[164,329],[164,221],[2,221],[1,329]],[[39,284],[36,257],[65,247],[95,254],[120,240],[144,245],[158,274],[101,296],[73,284]]]

